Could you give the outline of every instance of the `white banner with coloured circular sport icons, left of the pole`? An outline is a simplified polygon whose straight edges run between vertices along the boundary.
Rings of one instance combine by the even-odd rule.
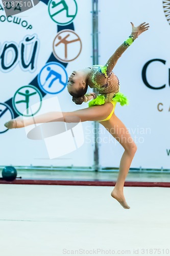
[[[66,83],[73,70],[92,65],[92,2],[18,3],[0,6],[0,165],[91,166],[94,144],[91,135],[85,143],[87,122],[16,130],[7,130],[4,123],[20,115],[28,119],[79,109]]]

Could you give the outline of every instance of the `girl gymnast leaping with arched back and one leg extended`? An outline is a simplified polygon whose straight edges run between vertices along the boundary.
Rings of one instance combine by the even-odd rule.
[[[23,122],[21,118],[15,118],[5,126],[8,129],[21,128],[33,123],[45,123],[53,121],[62,122],[84,122],[98,121],[107,131],[124,147],[124,154],[120,160],[119,174],[111,192],[111,196],[116,199],[124,208],[129,209],[124,197],[124,183],[128,175],[132,159],[136,152],[136,145],[131,138],[126,126],[114,114],[116,102],[120,105],[128,104],[128,99],[125,95],[119,92],[119,81],[116,75],[112,72],[117,60],[133,43],[133,41],[144,31],[149,29],[149,24],[142,23],[138,27],[132,25],[132,33],[123,44],[109,58],[105,66],[94,65],[91,68],[73,71],[69,76],[67,89],[72,96],[72,101],[76,104],[89,102],[89,107],[73,112],[50,112],[26,119]],[[94,93],[86,94],[88,86],[96,88],[99,95],[96,97]],[[62,117],[61,117],[62,116]]]

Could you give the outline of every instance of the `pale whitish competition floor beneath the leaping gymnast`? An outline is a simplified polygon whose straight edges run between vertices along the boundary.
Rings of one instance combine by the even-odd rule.
[[[170,189],[111,190],[0,184],[0,255],[169,255]]]

